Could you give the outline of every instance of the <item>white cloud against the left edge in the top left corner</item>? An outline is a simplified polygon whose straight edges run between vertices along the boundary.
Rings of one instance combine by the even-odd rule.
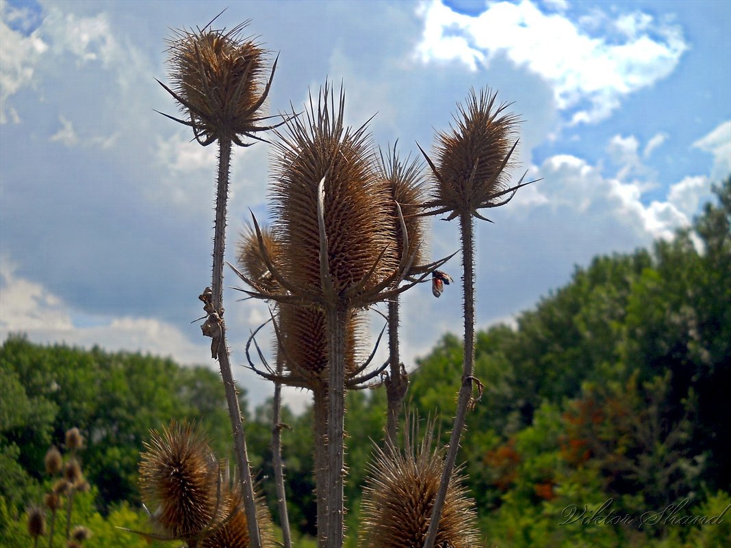
[[[33,85],[35,64],[48,50],[37,31],[26,35],[20,30],[27,28],[23,20],[29,18],[29,9],[0,1],[0,124],[20,123],[18,112],[10,106],[10,97]]]

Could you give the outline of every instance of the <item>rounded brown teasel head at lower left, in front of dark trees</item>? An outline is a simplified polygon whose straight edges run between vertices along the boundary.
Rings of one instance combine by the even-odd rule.
[[[140,491],[154,521],[175,539],[192,539],[216,518],[218,468],[205,438],[173,421],[151,439],[140,460]]]

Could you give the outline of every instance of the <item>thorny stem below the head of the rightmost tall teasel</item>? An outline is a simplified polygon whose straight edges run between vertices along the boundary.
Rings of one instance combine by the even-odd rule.
[[[474,370],[474,221],[469,211],[460,215],[460,229],[462,232],[462,267],[464,270],[464,361],[462,369],[462,385],[457,400],[457,413],[455,414],[452,437],[447,451],[447,458],[444,461],[442,481],[439,484],[439,491],[436,492],[434,506],[431,511],[429,529],[426,533],[424,548],[433,548],[436,541],[436,533],[439,530],[439,519],[442,517],[444,498],[447,496],[452,469],[457,460],[460,438],[464,428],[465,417],[472,397],[472,380]]]

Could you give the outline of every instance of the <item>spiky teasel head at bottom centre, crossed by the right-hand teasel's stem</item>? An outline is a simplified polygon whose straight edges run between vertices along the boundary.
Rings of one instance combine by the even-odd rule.
[[[363,548],[422,548],[431,509],[444,470],[441,451],[431,449],[431,427],[416,448],[406,427],[405,449],[384,452],[375,447],[375,459],[363,490]],[[436,547],[475,548],[477,514],[466,495],[458,471],[452,473]]]

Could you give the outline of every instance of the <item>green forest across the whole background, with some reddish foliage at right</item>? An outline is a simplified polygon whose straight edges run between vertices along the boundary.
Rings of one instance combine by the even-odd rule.
[[[467,418],[458,462],[466,463],[488,546],[731,545],[731,178],[716,194],[673,240],[596,257],[515,325],[479,333],[475,376],[485,393]],[[410,411],[436,417],[444,444],[461,353],[455,336],[439,340],[418,362],[406,397]],[[80,460],[91,485],[77,493],[72,514],[94,533],[84,546],[150,546],[117,528],[145,528],[137,489],[143,441],[151,428],[189,419],[226,455],[220,383],[218,373],[169,359],[8,338],[0,349],[0,546],[33,545],[26,509],[53,481],[45,454],[75,426],[86,438]],[[245,392],[240,403],[246,409]],[[347,408],[347,545],[355,546],[385,392],[349,392]],[[270,404],[246,421],[249,456],[276,522]],[[311,411],[285,408],[283,422],[289,518],[297,546],[312,546]],[[724,511],[715,523],[690,520]]]

